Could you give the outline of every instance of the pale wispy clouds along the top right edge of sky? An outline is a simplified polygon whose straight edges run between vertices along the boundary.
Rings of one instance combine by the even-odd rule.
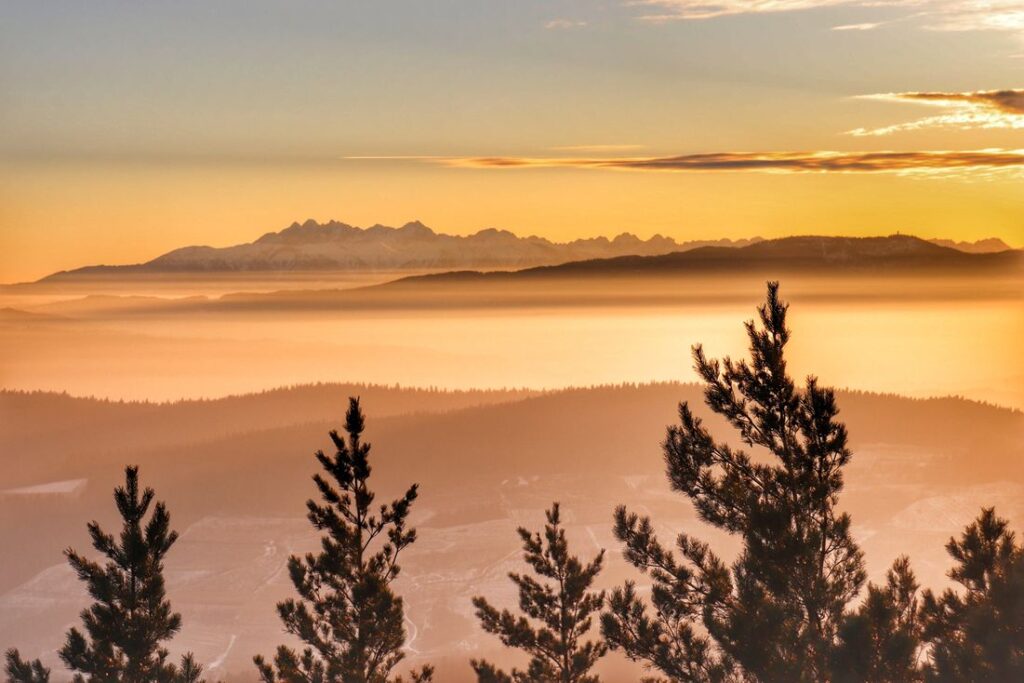
[[[1021,0],[627,0],[626,4],[639,7],[639,18],[654,24],[851,5],[905,7],[910,14],[904,18],[913,18],[935,31],[1024,30]],[[836,29],[869,31],[887,23],[851,24]]]

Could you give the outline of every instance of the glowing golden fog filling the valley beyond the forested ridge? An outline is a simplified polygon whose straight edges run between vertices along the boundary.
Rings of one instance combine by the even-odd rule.
[[[799,311],[790,347],[798,376],[1024,407],[1016,266],[542,269],[312,289],[246,276],[246,293],[225,292],[238,283],[222,279],[166,281],[157,293],[152,281],[84,292],[79,283],[63,295],[7,288],[0,378],[7,388],[154,400],[323,381],[461,389],[674,381],[687,377],[692,344],[742,353],[737,326],[768,278],[783,280]]]

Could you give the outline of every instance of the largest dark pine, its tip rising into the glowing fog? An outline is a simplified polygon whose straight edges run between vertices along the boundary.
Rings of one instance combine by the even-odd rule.
[[[786,309],[769,283],[760,326],[746,324],[750,364],[693,349],[709,408],[760,454],[716,440],[686,403],[664,444],[672,487],[740,540],[731,567],[685,532],[677,557],[650,519],[615,512],[627,560],[653,582],[655,611],[627,584],[610,597],[604,635],[673,681],[829,680],[844,609],[864,583],[850,518],[836,509],[846,428],[829,389],[790,378]]]

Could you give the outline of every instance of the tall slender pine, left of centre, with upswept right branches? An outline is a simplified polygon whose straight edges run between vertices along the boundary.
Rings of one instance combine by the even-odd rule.
[[[278,604],[285,630],[306,647],[296,652],[280,646],[272,665],[254,657],[265,683],[401,681],[391,678],[391,671],[404,658],[404,609],[391,583],[398,575],[398,554],[416,541],[416,530],[406,522],[417,485],[374,512],[364,427],[359,400],[350,398],[345,416],[348,440],[332,431],[334,456],[316,453],[330,480],[313,476],[323,503],[308,501],[307,517],[326,533],[318,554],[289,559],[300,599]],[[412,680],[430,681],[432,674],[431,667],[423,667],[412,673]]]

